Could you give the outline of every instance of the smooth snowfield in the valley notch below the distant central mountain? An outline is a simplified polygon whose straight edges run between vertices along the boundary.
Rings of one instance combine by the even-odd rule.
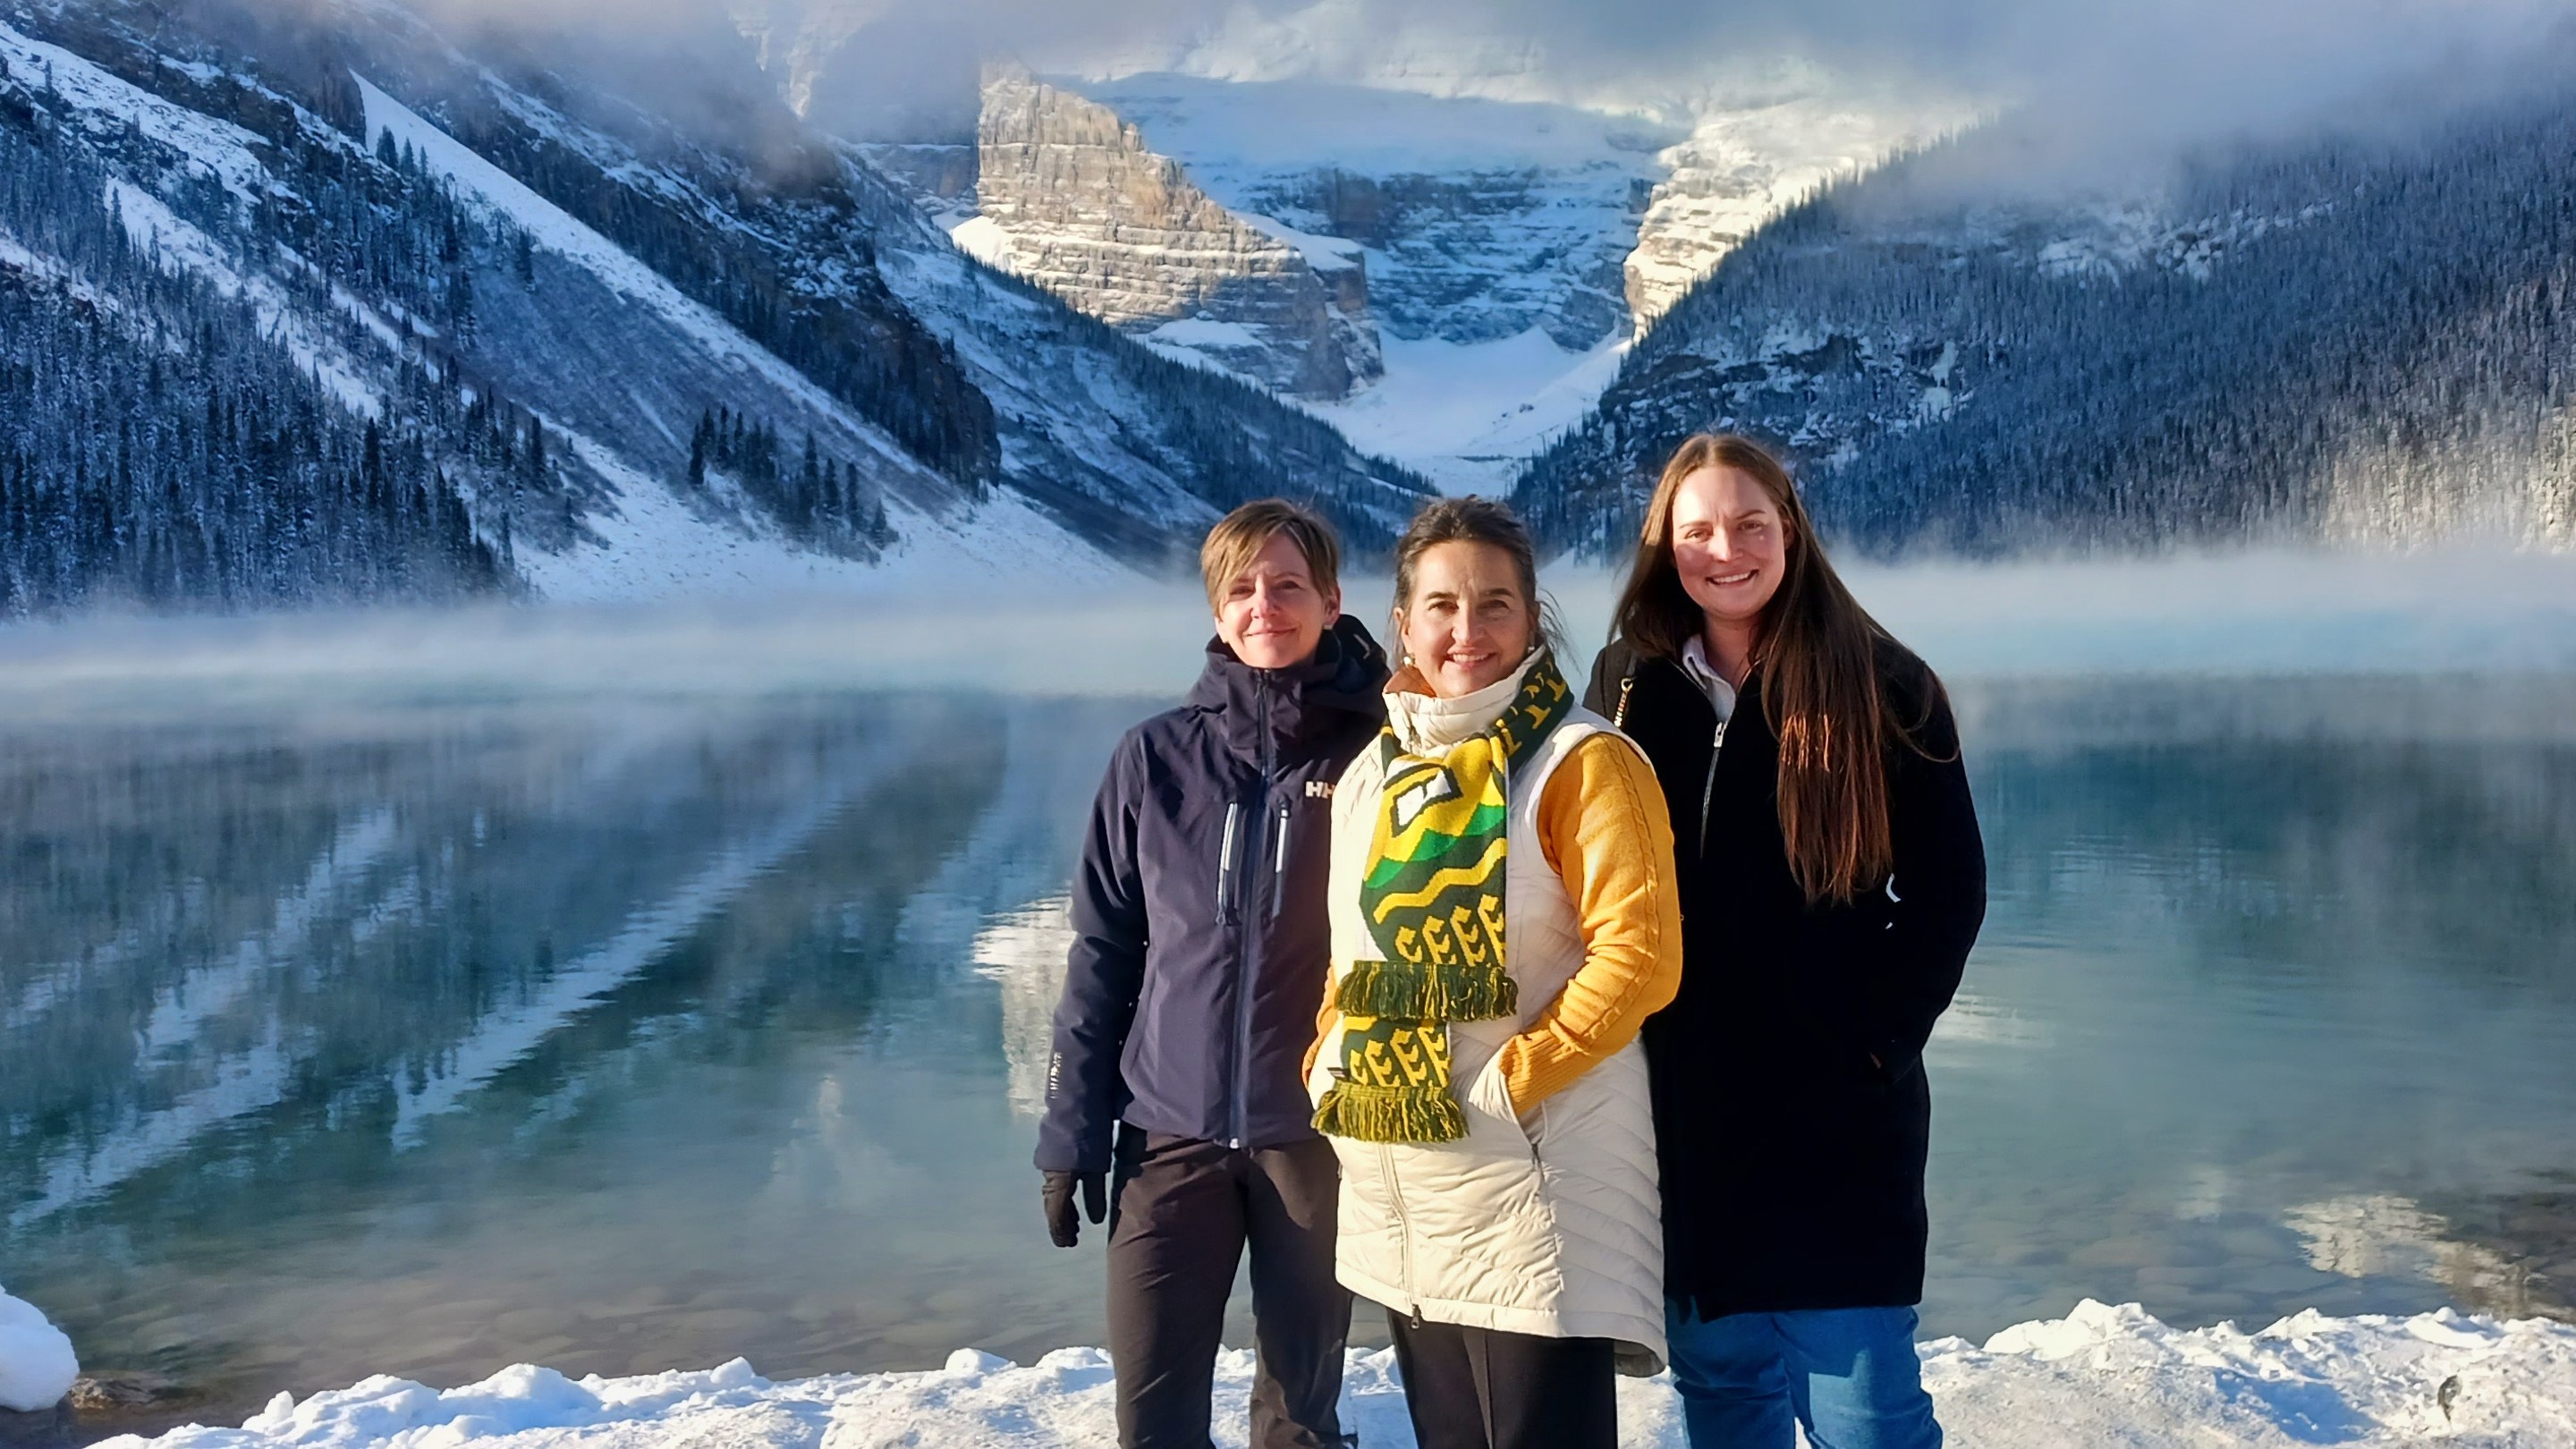
[[[1623,338],[1569,353],[1530,327],[1494,343],[1386,338],[1386,376],[1347,402],[1306,405],[1443,492],[1504,492],[1512,467],[1584,418],[1618,376]]]

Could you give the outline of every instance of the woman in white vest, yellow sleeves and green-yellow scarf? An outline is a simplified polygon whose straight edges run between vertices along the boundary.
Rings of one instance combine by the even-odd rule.
[[[1530,536],[1481,498],[1396,541],[1388,727],[1332,799],[1309,1091],[1345,1287],[1386,1305],[1425,1449],[1610,1449],[1664,1366],[1638,1026],[1682,980],[1646,758],[1551,657]]]

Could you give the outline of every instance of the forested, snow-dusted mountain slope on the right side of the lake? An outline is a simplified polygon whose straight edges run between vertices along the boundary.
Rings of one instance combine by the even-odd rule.
[[[1837,186],[1690,291],[1515,500],[1620,554],[1672,446],[1734,428],[1880,552],[2576,547],[2568,54],[2419,137],[2156,186],[2014,183],[2045,116]]]

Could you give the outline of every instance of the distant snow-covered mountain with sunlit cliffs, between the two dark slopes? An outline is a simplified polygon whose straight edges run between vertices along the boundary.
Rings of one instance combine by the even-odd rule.
[[[1097,108],[1087,129],[1036,134],[1025,88],[987,85],[981,137],[907,121],[866,150],[997,266],[1296,394],[1445,487],[1492,490],[1762,222],[1976,119],[1929,88],[1790,62],[1600,85],[1458,15],[1388,31],[1381,10],[1244,5],[1180,34],[1056,46],[1023,59],[1059,106]],[[806,113],[845,116],[858,77],[827,57],[860,49],[850,8],[775,0],[757,26]],[[1128,165],[1100,162],[1110,137]],[[1146,224],[1121,209],[1139,170],[1159,209]],[[1283,260],[1255,258],[1255,237]],[[1355,343],[1334,358],[1355,366],[1316,369],[1321,327],[1278,322],[1278,273],[1301,271],[1285,258],[1337,284],[1332,320]],[[1141,273],[1159,284],[1139,289]]]

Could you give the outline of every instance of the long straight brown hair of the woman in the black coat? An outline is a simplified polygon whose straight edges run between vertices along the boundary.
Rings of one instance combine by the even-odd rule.
[[[1942,699],[1940,678],[1906,652],[1852,598],[1816,541],[1816,523],[1788,469],[1762,443],[1736,433],[1698,433],[1674,449],[1646,503],[1636,562],[1613,629],[1638,655],[1680,660],[1705,627],[1672,559],[1672,498],[1705,469],[1754,480],[1780,513],[1780,588],[1754,621],[1762,714],[1780,740],[1780,838],[1788,869],[1811,902],[1850,902],[1896,866],[1888,838],[1891,743],[1914,743]],[[1919,670],[1922,717],[1896,719],[1880,683],[1880,652]]]

